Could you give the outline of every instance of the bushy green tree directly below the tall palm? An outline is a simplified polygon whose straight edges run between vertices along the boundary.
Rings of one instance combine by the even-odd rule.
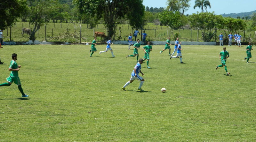
[[[188,20],[191,27],[198,27],[201,30],[203,40],[206,42],[212,39],[215,34],[215,30],[212,31],[212,29],[218,26],[218,21],[220,21],[214,12],[193,13],[188,17]]]

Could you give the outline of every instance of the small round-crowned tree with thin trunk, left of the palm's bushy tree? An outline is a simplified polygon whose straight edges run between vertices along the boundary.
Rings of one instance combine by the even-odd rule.
[[[171,28],[174,40],[175,34],[173,34],[173,30],[179,29],[181,26],[185,26],[187,24],[186,16],[180,15],[179,11],[163,11],[159,15],[159,21],[161,22],[161,24],[169,26]]]

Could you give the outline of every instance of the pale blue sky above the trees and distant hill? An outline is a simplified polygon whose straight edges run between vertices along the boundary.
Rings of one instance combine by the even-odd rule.
[[[228,14],[228,13],[240,13],[240,12],[250,12],[256,10],[256,0],[209,0],[211,3],[211,9],[207,8],[207,11],[214,11],[216,14]],[[152,7],[166,7],[167,0],[143,0],[143,5]],[[195,0],[190,0],[190,7],[185,14],[196,13],[196,11],[201,12],[198,7],[194,9]]]

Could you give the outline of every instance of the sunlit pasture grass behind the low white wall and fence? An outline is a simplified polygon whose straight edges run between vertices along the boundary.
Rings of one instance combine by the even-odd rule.
[[[32,28],[32,25],[29,25],[28,22],[17,22],[16,25],[12,26],[12,41],[28,41],[29,40],[29,35],[24,34],[22,36],[22,25],[24,28]],[[88,26],[87,28],[87,24],[81,24],[82,26],[82,42],[91,42],[93,40],[93,29],[90,29],[90,27]],[[121,27],[121,35],[119,32],[119,27]],[[145,27],[145,33],[148,34],[147,37],[147,41],[166,41],[167,37],[170,34],[169,28],[167,28],[167,26],[156,26],[153,23],[148,23],[148,25],[146,25]],[[156,29],[156,35],[155,35],[155,29]],[[167,29],[168,29],[168,34],[167,34]],[[52,30],[53,30],[53,36],[52,36]],[[68,38],[68,39],[59,39],[59,38],[52,38],[52,37],[56,37],[59,36],[60,34],[64,33],[64,32],[68,32],[69,33],[79,33],[80,31],[80,25],[78,23],[61,23],[61,27],[60,27],[60,23],[47,23],[46,25],[46,40],[47,41],[66,41],[66,42],[70,42],[70,43],[77,43],[79,42],[79,36],[76,39],[72,39],[72,38]],[[116,35],[115,35],[115,40],[124,40],[126,41],[129,34],[134,32],[135,29],[132,30],[132,28],[129,26],[128,29],[128,24],[120,24],[117,26],[117,30],[116,30]],[[94,31],[99,31],[99,32],[104,32],[105,34],[107,34],[107,29],[103,24],[99,24],[98,26],[96,26],[94,28]],[[141,34],[141,30],[140,34]],[[221,30],[217,31],[217,36],[219,37],[220,32],[223,32]],[[244,38],[244,32],[243,31],[237,31],[237,33],[239,33],[243,36]],[[197,41],[197,30],[196,29],[192,29],[192,36],[191,36],[191,30],[190,29],[178,29],[178,30],[173,30],[173,34],[178,33],[179,34],[179,38],[181,41]],[[7,35],[7,29],[4,30],[3,32],[4,34],[4,41],[10,41],[10,28],[8,29],[8,35]],[[233,33],[234,34],[234,33]],[[255,42],[255,33],[254,31],[250,31],[247,32],[245,34],[245,37],[249,37],[251,34],[251,39],[253,42]],[[45,40],[45,28],[44,26],[42,26],[38,33],[35,34],[36,35],[36,40],[39,41],[44,41]],[[78,34],[79,35],[79,34]],[[216,38],[216,41],[218,40],[218,37]],[[138,38],[140,38],[140,35],[138,35]],[[98,40],[101,40],[100,38]],[[133,37],[133,40],[134,37]],[[173,41],[173,35],[171,34],[171,40]],[[198,35],[198,41],[203,41],[202,39],[202,33],[199,30],[199,35]],[[215,41],[215,38],[212,38],[211,41]],[[243,41],[243,40],[242,40]]]

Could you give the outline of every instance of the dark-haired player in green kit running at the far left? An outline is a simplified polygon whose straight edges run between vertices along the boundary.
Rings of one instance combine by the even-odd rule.
[[[20,65],[18,66],[18,64],[16,63],[17,60],[17,54],[13,53],[12,54],[12,61],[11,64],[9,66],[9,71],[11,71],[10,76],[8,78],[6,78],[6,80],[8,81],[5,83],[0,84],[0,86],[11,86],[12,82],[14,82],[15,84],[18,85],[18,88],[20,90],[20,93],[22,94],[21,97],[28,97],[27,94],[25,94],[21,88],[21,84],[20,84],[20,78],[19,78],[19,74],[18,71],[20,71]]]

